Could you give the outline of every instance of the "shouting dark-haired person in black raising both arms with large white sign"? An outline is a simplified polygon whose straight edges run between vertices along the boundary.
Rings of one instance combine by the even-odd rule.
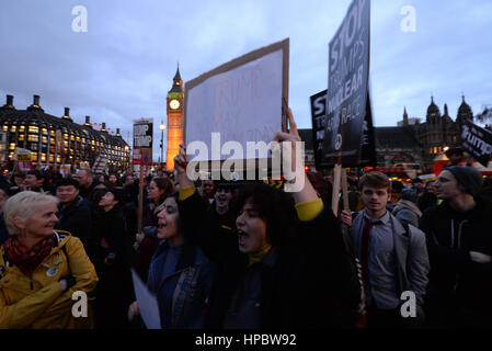
[[[300,141],[288,110],[290,165]],[[285,161],[285,160],[284,160]],[[286,193],[260,182],[238,199],[237,233],[225,234],[206,215],[206,204],[186,176],[186,150],[174,158],[182,222],[205,253],[217,262],[208,298],[206,328],[353,327],[361,287],[345,251],[340,223],[302,172],[304,186]],[[304,168],[302,168],[304,169]],[[302,184],[302,181],[300,181]]]

